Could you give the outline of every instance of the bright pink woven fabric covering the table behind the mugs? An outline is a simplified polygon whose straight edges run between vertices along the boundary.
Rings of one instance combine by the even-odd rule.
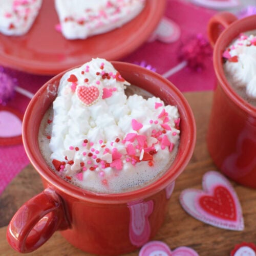
[[[161,0],[160,0],[161,1]],[[172,19],[181,29],[181,37],[178,41],[165,44],[160,41],[145,42],[135,52],[121,59],[131,63],[145,61],[156,69],[156,72],[163,74],[169,69],[178,65],[178,55],[182,44],[187,39],[197,34],[202,34],[205,38],[206,25],[209,18],[215,11],[197,7],[185,1],[167,0],[165,17]],[[50,76],[31,75],[15,70],[8,70],[8,74],[16,77],[20,87],[35,93]],[[184,68],[178,73],[168,77],[182,92],[212,90],[215,87],[216,78],[212,67],[211,59],[207,59],[205,69],[196,72],[189,68]],[[29,99],[19,93],[8,102],[8,106],[24,113]],[[0,122],[4,120],[0,120]],[[0,146],[0,194],[9,182],[27,165],[29,159],[26,156],[22,144],[14,146]]]

